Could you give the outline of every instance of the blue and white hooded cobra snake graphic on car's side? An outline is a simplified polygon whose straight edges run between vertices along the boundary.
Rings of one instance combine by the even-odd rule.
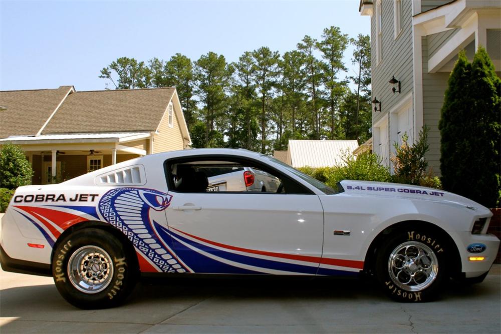
[[[143,188],[119,188],[108,191],[99,201],[104,219],[121,230],[137,250],[146,255],[163,272],[185,272],[172,251],[155,231],[150,210],[163,211],[171,195]]]

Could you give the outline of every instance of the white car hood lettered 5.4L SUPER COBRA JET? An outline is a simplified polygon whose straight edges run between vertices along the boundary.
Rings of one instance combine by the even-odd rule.
[[[396,197],[412,200],[427,200],[452,204],[454,206],[467,207],[471,210],[486,209],[486,207],[472,201],[466,197],[453,194],[441,189],[414,186],[409,184],[374,182],[374,181],[353,181],[343,180],[340,182],[347,195]]]

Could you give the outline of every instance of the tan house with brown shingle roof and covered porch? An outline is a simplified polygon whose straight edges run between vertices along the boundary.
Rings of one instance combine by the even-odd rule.
[[[175,88],[0,92],[0,145],[23,148],[34,184],[191,145]]]

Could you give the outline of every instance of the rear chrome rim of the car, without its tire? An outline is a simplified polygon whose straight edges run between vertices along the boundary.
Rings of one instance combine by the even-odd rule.
[[[68,260],[68,276],[73,286],[80,291],[98,293],[113,278],[113,261],[103,248],[83,246]]]

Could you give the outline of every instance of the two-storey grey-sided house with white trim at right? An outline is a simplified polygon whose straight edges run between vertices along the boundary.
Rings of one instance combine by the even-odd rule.
[[[387,166],[407,133],[413,142],[430,128],[426,159],[440,171],[438,121],[457,54],[482,46],[501,71],[498,0],[361,0],[371,18],[373,150]]]

